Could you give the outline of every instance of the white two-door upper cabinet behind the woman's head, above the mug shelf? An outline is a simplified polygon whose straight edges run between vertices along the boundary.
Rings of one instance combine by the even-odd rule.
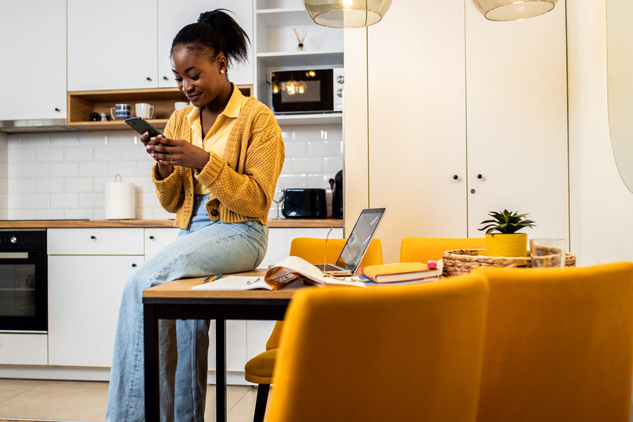
[[[175,87],[173,37],[215,8],[234,11],[251,36],[251,1],[136,0],[121,6],[68,0],[68,90]],[[252,84],[252,60],[229,76],[236,84]]]

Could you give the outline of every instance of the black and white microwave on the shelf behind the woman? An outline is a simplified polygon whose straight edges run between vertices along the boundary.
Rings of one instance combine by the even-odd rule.
[[[343,68],[270,72],[272,111],[278,115],[342,113]]]

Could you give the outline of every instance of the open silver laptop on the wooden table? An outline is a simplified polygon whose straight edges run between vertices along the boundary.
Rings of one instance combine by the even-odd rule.
[[[335,264],[314,264],[316,268],[327,274],[353,274],[358,270],[360,261],[373,239],[374,233],[382,220],[385,208],[363,209],[356,224],[349,233],[348,241],[339,255]]]

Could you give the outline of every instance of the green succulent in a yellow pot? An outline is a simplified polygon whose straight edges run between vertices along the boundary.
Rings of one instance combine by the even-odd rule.
[[[486,230],[486,256],[525,256],[527,252],[527,233],[517,233],[525,227],[534,227],[534,221],[524,218],[527,214],[512,213],[507,209],[488,213],[493,220],[482,221],[486,226],[477,230]],[[497,233],[495,233],[497,232]],[[482,255],[483,255],[482,254]],[[527,262],[517,260],[517,265]]]

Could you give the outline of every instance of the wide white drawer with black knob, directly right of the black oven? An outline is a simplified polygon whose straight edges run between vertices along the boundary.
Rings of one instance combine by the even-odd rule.
[[[143,255],[142,228],[49,228],[49,255]]]

